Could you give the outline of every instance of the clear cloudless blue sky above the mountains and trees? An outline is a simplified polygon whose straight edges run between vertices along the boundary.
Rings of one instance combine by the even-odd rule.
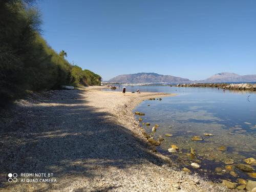
[[[38,7],[48,44],[103,80],[256,74],[255,0],[40,0]]]

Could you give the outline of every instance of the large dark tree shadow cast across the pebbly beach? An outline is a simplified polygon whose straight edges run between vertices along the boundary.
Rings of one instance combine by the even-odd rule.
[[[110,113],[85,105],[86,94],[58,91],[49,99],[15,106],[11,117],[0,119],[0,187],[9,185],[8,173],[53,173],[57,179],[90,179],[99,177],[95,171],[98,167],[164,163],[148,153],[144,141],[113,123]],[[45,187],[40,191],[49,186]]]

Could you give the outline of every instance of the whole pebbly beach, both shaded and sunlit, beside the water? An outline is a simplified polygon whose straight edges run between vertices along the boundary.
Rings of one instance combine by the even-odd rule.
[[[0,190],[226,190],[174,170],[143,138],[131,110],[143,99],[168,95],[97,89],[52,91],[6,112],[0,119]],[[8,173],[19,181],[8,183]],[[21,183],[20,173],[53,173],[57,182]]]

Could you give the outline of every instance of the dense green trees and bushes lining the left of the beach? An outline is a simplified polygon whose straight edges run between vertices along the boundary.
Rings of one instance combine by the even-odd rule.
[[[101,81],[99,75],[72,66],[65,51],[57,54],[40,36],[40,14],[33,2],[0,1],[0,106],[23,97],[26,90],[98,85]]]

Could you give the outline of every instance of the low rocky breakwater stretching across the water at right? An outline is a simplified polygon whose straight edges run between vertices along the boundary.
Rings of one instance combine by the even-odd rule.
[[[229,90],[250,90],[256,91],[256,84],[251,83],[188,83],[177,84],[176,87],[207,87],[207,88],[221,88]]]

